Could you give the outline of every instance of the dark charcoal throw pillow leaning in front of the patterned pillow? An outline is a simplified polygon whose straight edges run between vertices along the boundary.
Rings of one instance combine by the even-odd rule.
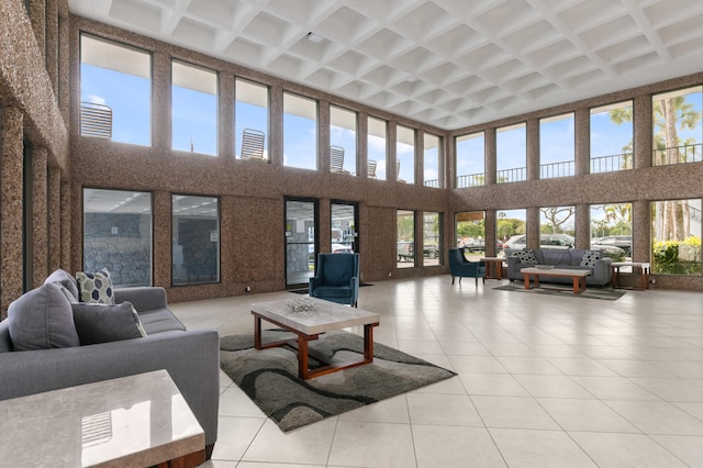
[[[132,302],[125,301],[121,304],[77,302],[71,304],[71,308],[81,345],[146,336]]]

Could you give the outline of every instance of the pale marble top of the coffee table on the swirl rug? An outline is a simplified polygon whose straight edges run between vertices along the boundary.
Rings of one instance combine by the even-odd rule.
[[[293,312],[287,299],[252,304],[252,312],[305,335],[317,335],[349,326],[379,323],[380,315],[364,309],[337,304],[322,299],[312,299],[315,303],[310,312]]]

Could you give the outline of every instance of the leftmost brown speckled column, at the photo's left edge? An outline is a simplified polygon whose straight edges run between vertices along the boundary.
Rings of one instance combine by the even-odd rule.
[[[0,109],[0,320],[8,305],[22,296],[23,114],[18,108]]]

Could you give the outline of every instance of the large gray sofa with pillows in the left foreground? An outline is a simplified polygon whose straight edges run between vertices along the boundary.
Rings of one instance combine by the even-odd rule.
[[[70,281],[64,277],[60,282]],[[135,317],[130,320],[129,313],[121,314],[120,320],[110,319],[109,328],[103,326],[104,322],[90,323],[81,319],[79,323],[78,311],[90,313],[90,310],[86,312],[88,304],[70,303],[67,311],[62,298],[70,298],[72,292],[67,293],[66,289],[48,281],[14,301],[9,317],[0,322],[0,400],[166,369],[205,433],[209,458],[217,438],[217,332],[187,331],[168,310],[166,291],[154,287],[114,289],[115,303],[124,307],[113,308],[136,311],[140,319],[136,323],[141,322],[143,331],[134,327]],[[22,308],[31,310],[22,311]],[[64,324],[57,323],[62,316],[74,313],[71,308],[76,313],[76,328],[65,320]],[[38,328],[33,330],[32,322],[42,322],[42,317],[46,319],[46,325],[38,323]],[[42,326],[54,328],[51,336],[29,337]],[[80,332],[80,343],[76,343],[74,330]],[[123,336],[113,337],[119,341],[105,342],[110,334],[119,333]],[[81,344],[83,342],[94,344]],[[27,350],[18,350],[18,347]]]

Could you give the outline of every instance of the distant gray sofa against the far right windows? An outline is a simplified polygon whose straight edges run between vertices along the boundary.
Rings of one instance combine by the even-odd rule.
[[[534,260],[529,260],[528,253],[534,254]],[[524,280],[525,277],[520,272],[523,268],[534,267],[535,265],[554,265],[555,268],[561,269],[588,269],[591,275],[585,277],[587,286],[605,286],[611,282],[611,263],[612,259],[602,257],[598,252],[585,250],[580,248],[569,249],[551,249],[535,248],[513,252],[507,260],[507,278],[513,280]],[[570,277],[540,276],[539,282],[559,282],[571,283]]]

